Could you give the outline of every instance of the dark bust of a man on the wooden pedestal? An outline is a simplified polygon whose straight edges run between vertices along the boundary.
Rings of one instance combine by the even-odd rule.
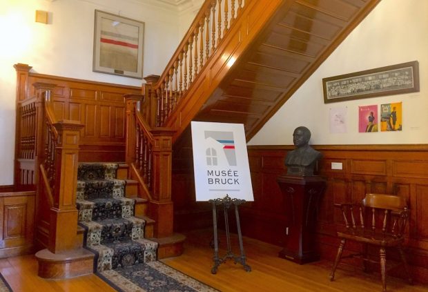
[[[309,146],[311,131],[304,126],[295,128],[293,143],[295,150],[290,151],[285,158],[287,175],[313,175],[313,169],[322,154]]]

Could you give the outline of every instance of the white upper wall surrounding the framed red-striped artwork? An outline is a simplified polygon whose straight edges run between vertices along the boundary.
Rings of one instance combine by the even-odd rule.
[[[184,35],[177,23],[191,23],[194,16],[154,0],[1,0],[0,185],[13,184],[14,64],[48,75],[142,85],[142,79],[93,72],[95,9],[144,21],[144,76],[162,74]],[[35,22],[36,10],[49,12],[49,24]]]

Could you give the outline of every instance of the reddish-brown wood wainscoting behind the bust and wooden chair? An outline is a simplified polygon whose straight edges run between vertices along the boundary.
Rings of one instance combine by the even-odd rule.
[[[334,260],[336,227],[342,224],[334,203],[359,202],[366,193],[389,193],[407,199],[410,220],[406,253],[418,282],[428,282],[428,145],[314,146],[323,157],[319,174],[327,189],[318,214],[317,245],[322,258]],[[254,202],[240,211],[242,233],[282,245],[289,222],[278,175],[286,171],[284,158],[292,146],[249,146]],[[338,162],[342,169],[331,169]],[[358,246],[348,246],[358,249]],[[388,252],[388,251],[387,251]],[[391,254],[389,254],[391,256]],[[392,256],[393,257],[393,256]],[[396,275],[398,271],[391,271]]]

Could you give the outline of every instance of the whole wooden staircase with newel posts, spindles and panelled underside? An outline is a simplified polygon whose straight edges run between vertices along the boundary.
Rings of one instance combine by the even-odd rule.
[[[173,233],[173,148],[174,169],[190,168],[190,122],[242,123],[251,139],[379,1],[206,0],[162,75],[145,78],[141,95],[126,95],[124,105],[117,93],[102,89],[105,84],[96,85],[101,99],[95,95],[86,110],[114,101],[115,116],[110,120],[126,124],[126,135],[121,136],[121,123],[103,133],[117,135],[103,153],[113,157],[109,149],[114,149],[115,158],[124,157],[126,164],[119,167],[118,175],[128,179],[126,193],[137,200],[136,211],[153,220],[148,232],[165,246],[159,258],[182,251],[184,239]],[[57,271],[63,278],[88,273],[87,266],[80,269],[82,255],[75,254],[81,251],[81,231],[74,225],[79,139],[84,135],[85,159],[90,159],[87,153],[99,155],[96,147],[102,148],[108,139],[93,144],[85,135],[97,133],[95,119],[93,128],[81,130],[81,119],[88,113],[82,114],[78,107],[67,111],[72,103],[64,103],[66,99],[56,99],[56,104],[50,100],[51,92],[59,95],[66,87],[59,90],[56,84],[47,84],[44,80],[52,79],[48,76],[37,76],[42,80],[32,84],[37,97],[26,99],[30,67],[17,65],[18,80],[25,82],[18,82],[17,88],[21,112],[15,179],[16,184],[38,185],[36,242],[48,248],[46,260],[53,259],[43,276],[52,278]],[[74,93],[70,87],[69,92],[89,100],[93,93],[85,86]],[[61,110],[70,117],[57,119]],[[77,260],[73,262],[70,254]],[[83,257],[86,264],[90,262],[90,256]],[[73,269],[75,273],[69,273]],[[40,267],[39,272],[43,273]]]

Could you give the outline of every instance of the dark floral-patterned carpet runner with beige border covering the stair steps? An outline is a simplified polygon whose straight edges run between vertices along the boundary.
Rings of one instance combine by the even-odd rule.
[[[135,200],[116,179],[118,164],[79,164],[77,208],[86,247],[97,255],[97,271],[156,260],[157,243],[144,238],[146,222],[133,217]]]

